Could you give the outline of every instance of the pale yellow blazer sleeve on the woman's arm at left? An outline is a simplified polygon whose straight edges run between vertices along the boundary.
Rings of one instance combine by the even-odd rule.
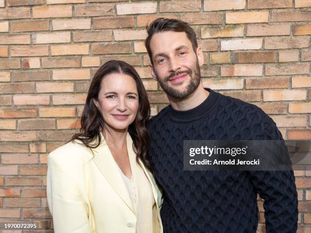
[[[88,208],[84,207],[71,168],[64,168],[59,157],[49,154],[47,201],[55,233],[90,233]],[[60,157],[61,158],[61,157]],[[66,167],[66,166],[65,166]]]

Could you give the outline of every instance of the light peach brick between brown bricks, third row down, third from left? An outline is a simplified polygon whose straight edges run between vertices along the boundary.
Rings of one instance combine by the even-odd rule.
[[[53,30],[90,29],[90,19],[55,19],[52,20]]]

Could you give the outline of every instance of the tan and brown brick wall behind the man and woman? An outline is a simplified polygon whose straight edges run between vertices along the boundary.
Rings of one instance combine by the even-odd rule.
[[[53,231],[47,153],[79,128],[90,78],[105,61],[135,66],[152,115],[168,104],[143,45],[146,23],[159,16],[197,32],[204,86],[259,106],[284,138],[310,140],[310,7],[310,0],[0,0],[0,222],[31,220]],[[299,232],[310,232],[311,172],[295,175]],[[263,213],[260,222],[262,232]]]

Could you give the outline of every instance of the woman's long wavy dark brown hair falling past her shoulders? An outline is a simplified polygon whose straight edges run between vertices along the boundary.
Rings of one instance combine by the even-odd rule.
[[[78,134],[72,137],[72,140],[81,141],[88,148],[96,148],[101,143],[101,134],[105,135],[106,122],[101,112],[94,104],[94,99],[98,100],[98,94],[101,89],[102,80],[109,74],[125,74],[131,76],[137,85],[139,106],[137,115],[132,124],[129,125],[129,134],[134,143],[136,160],[140,158],[147,169],[152,171],[150,162],[146,158],[149,146],[149,134],[145,123],[150,117],[150,105],[147,92],[135,69],[126,62],[110,60],[103,64],[94,75],[86,97],[86,103],[81,116],[81,128]],[[96,139],[98,139],[96,141]],[[96,144],[92,144],[96,141]]]

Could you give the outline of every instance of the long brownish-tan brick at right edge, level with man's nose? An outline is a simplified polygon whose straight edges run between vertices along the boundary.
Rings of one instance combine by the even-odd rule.
[[[308,74],[309,64],[267,64],[266,76]]]

